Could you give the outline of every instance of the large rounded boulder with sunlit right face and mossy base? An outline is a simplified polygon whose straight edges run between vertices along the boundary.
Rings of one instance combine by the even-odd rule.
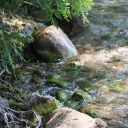
[[[67,35],[53,25],[38,29],[34,38],[33,48],[45,61],[77,56],[77,50]]]

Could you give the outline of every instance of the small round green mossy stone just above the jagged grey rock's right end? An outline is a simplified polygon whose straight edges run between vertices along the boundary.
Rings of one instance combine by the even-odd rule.
[[[59,101],[67,101],[68,99],[68,96],[67,96],[67,93],[64,92],[64,91],[58,91],[56,93],[56,98],[59,100]]]

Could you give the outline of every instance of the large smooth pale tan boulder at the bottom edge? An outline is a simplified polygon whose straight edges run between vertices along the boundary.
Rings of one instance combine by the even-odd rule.
[[[69,108],[54,110],[44,118],[45,128],[108,128],[99,118],[92,118]]]

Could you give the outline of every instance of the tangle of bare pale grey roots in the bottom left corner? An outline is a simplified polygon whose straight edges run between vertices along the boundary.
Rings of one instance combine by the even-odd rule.
[[[33,110],[16,111],[0,104],[1,115],[7,128],[43,128],[42,117]]]

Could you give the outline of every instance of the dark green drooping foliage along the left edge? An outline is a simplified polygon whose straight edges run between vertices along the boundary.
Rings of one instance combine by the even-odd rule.
[[[15,76],[14,72],[14,59],[19,57],[21,61],[25,61],[22,56],[22,48],[25,38],[19,31],[17,26],[8,25],[0,22],[0,61],[1,70]],[[16,76],[15,76],[16,77]]]

